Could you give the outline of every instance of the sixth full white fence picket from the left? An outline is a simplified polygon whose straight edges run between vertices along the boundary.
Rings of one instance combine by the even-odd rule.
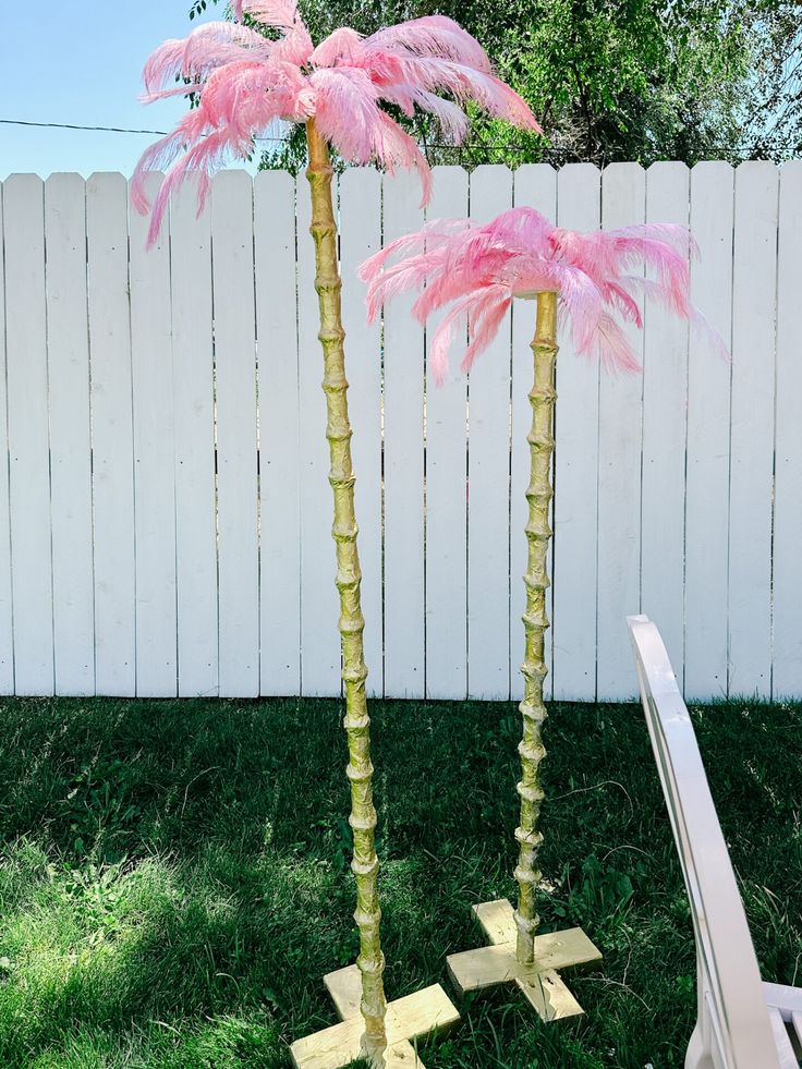
[[[211,183],[220,695],[259,693],[253,183]]]

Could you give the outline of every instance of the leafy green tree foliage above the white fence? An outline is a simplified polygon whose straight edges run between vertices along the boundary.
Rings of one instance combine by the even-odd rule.
[[[341,25],[368,34],[426,14],[455,19],[546,131],[524,135],[476,117],[470,141],[453,148],[430,120],[414,120],[432,162],[694,163],[786,158],[802,146],[799,0],[300,0],[300,7],[315,40]],[[301,166],[303,139],[283,142],[280,134],[258,146],[265,166]]]

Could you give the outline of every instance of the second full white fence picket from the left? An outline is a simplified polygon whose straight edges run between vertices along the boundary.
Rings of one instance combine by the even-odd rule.
[[[45,183],[57,694],[95,693],[86,183]]]

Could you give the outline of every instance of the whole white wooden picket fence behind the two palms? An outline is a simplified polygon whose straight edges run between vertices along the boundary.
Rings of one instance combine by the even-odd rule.
[[[303,178],[295,197],[221,173],[146,252],[122,175],[2,184],[0,692],[339,692]],[[368,682],[515,697],[533,309],[441,390],[409,304],[365,326],[354,269],[418,198],[408,174],[339,183]],[[689,697],[802,695],[802,161],[441,168],[428,215],[513,203],[690,222],[693,299],[733,354],[648,303],[642,376],[562,338],[549,693],[632,696],[643,610]]]

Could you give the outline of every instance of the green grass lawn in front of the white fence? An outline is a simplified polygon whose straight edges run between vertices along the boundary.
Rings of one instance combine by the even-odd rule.
[[[802,706],[693,710],[767,980],[800,980]],[[511,896],[508,704],[374,703],[391,997],[481,943]],[[586,1016],[542,1025],[475,998],[432,1069],[682,1066],[689,910],[640,709],[552,706],[544,926],[603,968]],[[355,953],[340,709],[327,701],[0,705],[0,1065],[287,1067],[333,1022],[320,977]]]

